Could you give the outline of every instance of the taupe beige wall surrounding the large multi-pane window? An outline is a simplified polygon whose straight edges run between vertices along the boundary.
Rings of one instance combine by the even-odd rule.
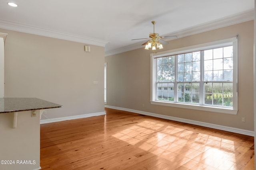
[[[105,57],[105,62],[108,64],[107,105],[254,131],[254,21],[175,39],[164,45],[161,51],[228,39],[237,34],[239,34],[237,115],[151,105],[150,53],[152,51],[143,48]],[[241,121],[242,117],[246,118],[245,123]]]

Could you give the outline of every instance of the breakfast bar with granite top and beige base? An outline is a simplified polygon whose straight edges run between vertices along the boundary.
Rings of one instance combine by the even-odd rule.
[[[62,107],[38,98],[0,98],[0,169],[40,169],[40,117]]]

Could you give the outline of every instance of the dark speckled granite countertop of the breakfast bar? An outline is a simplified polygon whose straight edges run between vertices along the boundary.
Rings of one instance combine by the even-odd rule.
[[[62,105],[38,98],[0,98],[0,113],[51,109],[58,107],[62,107]]]

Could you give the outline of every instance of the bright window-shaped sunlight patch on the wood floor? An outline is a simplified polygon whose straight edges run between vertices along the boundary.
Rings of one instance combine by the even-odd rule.
[[[143,121],[112,136],[174,161],[177,166],[184,164],[184,167],[202,168],[205,165],[201,163],[204,162],[211,168],[229,169],[236,164],[234,141],[196,133],[182,126],[164,127],[161,123]]]

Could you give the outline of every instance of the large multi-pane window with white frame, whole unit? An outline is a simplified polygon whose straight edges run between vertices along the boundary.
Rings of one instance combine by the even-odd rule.
[[[151,104],[237,113],[237,38],[151,54]]]

